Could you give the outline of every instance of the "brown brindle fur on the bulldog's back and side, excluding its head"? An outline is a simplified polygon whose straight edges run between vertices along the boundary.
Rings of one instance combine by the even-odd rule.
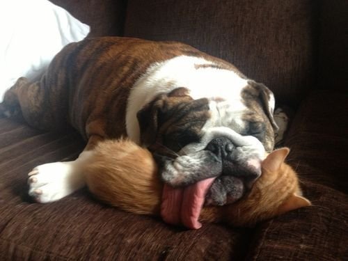
[[[230,63],[179,42],[90,38],[67,45],[40,81],[20,78],[6,94],[2,110],[22,111],[25,120],[38,129],[60,130],[71,125],[84,139],[127,136],[125,110],[130,88],[152,63],[161,62],[158,57],[165,61],[178,55],[203,56],[237,72]]]

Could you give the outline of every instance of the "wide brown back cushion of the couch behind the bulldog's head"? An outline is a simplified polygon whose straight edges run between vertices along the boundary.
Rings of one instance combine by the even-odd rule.
[[[314,79],[316,17],[307,0],[129,0],[125,35],[186,42],[296,103]]]

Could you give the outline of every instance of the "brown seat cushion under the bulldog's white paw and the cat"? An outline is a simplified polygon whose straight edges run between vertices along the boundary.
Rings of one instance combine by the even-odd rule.
[[[1,260],[230,260],[246,255],[252,230],[205,224],[199,230],[122,212],[86,189],[47,205],[26,196],[28,171],[77,157],[75,133],[49,134],[0,118]]]

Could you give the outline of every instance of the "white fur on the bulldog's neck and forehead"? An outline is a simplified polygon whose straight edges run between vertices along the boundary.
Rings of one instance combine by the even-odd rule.
[[[242,128],[240,116],[246,106],[241,100],[241,91],[248,85],[248,80],[239,77],[232,70],[197,68],[197,65],[207,64],[214,65],[212,61],[207,61],[204,58],[177,56],[151,65],[145,74],[136,81],[129,94],[126,114],[129,138],[140,143],[140,129],[136,113],[160,93],[169,93],[180,87],[188,88],[189,95],[194,100],[203,97],[212,100],[210,109],[215,111],[214,118],[207,125],[226,125],[226,127],[234,129],[235,125],[240,125],[239,128]],[[221,98],[225,102],[215,102]],[[233,104],[234,107],[227,110],[223,108],[229,104]],[[221,114],[222,111],[224,114]]]

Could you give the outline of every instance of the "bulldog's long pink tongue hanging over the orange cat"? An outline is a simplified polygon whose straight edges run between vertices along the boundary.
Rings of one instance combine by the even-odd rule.
[[[198,221],[205,195],[214,182],[215,177],[201,180],[184,188],[173,188],[164,184],[161,216],[166,223],[187,228],[198,229],[202,224]]]

